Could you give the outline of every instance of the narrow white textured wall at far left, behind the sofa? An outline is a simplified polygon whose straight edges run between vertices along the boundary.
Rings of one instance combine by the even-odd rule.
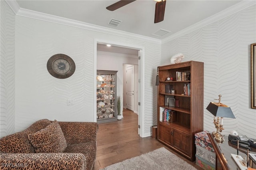
[[[0,7],[0,137],[2,137],[13,133],[15,128],[15,14],[5,1],[0,1]]]

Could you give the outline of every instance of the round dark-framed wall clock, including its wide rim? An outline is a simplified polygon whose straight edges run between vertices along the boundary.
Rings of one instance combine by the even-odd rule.
[[[75,69],[75,62],[65,54],[52,55],[47,62],[47,70],[53,77],[58,79],[70,77],[75,72]]]

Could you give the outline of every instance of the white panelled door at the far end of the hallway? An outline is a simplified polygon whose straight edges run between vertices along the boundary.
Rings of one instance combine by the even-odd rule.
[[[134,111],[134,65],[126,68],[126,108]]]

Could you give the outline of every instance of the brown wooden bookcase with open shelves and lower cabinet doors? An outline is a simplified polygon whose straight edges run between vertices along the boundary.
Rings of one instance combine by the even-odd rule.
[[[159,66],[158,75],[157,138],[194,161],[194,134],[203,131],[204,125],[204,63],[187,61]]]

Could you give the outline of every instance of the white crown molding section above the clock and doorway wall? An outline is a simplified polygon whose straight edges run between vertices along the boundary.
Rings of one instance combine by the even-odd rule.
[[[115,30],[112,28],[97,26],[94,24],[89,24],[89,23],[85,23],[85,22],[62,18],[59,16],[53,16],[53,15],[45,14],[42,12],[27,10],[24,8],[20,8],[18,10],[18,12],[16,13],[16,15],[27,17],[27,18],[33,18],[36,20],[42,20],[42,21],[46,21],[46,22],[53,22],[56,24],[62,24],[62,25],[66,25],[66,26],[73,26],[76,28],[82,28],[82,29],[86,29],[86,30],[92,30],[92,31],[96,31],[96,32],[102,32],[102,33],[106,33],[106,34],[112,34],[115,36],[122,36],[122,37],[126,37],[126,38],[132,38],[132,39],[136,39],[136,40],[142,40],[142,41],[146,41],[146,42],[161,44],[161,40],[158,40],[156,38],[150,38],[150,37],[141,36],[138,34],[132,34],[129,32]]]

